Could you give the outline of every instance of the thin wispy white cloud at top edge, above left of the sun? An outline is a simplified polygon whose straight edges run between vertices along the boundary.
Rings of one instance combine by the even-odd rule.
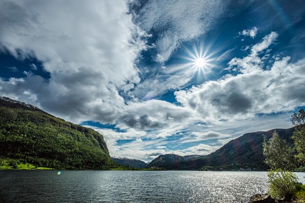
[[[223,16],[236,14],[251,1],[230,0],[149,0],[134,1],[135,21],[152,35],[157,49],[155,60],[169,59],[182,41],[207,33]],[[230,11],[228,12],[228,7]]]

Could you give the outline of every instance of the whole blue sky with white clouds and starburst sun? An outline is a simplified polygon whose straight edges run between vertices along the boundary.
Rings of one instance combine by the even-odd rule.
[[[305,107],[304,0],[1,0],[0,95],[112,156],[206,155]]]

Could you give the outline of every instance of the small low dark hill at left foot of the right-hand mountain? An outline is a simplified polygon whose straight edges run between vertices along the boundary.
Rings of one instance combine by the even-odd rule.
[[[180,168],[180,163],[189,162],[191,164],[191,160],[199,157],[199,155],[179,156],[176,154],[163,154],[152,160],[147,167],[155,166],[164,167],[166,169],[184,169]]]

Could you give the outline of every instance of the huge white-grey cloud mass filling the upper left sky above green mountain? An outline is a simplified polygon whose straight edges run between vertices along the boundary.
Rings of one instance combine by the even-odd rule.
[[[146,34],[128,12],[124,0],[1,1],[1,48],[36,57],[51,78],[0,79],[0,94],[77,123],[114,122],[125,106],[118,91],[140,81],[135,59],[145,49]]]

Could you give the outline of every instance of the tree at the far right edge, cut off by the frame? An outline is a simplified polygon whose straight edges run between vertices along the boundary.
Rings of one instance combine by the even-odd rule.
[[[300,162],[305,163],[305,111],[300,109],[298,113],[294,112],[291,115],[292,125],[295,126],[292,139],[298,151],[296,156]]]

